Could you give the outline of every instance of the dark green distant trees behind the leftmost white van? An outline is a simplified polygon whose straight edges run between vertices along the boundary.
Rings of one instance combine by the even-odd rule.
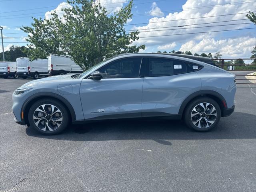
[[[4,58],[5,61],[16,61],[16,58],[19,57],[28,57],[26,54],[26,48],[25,46],[11,46],[9,51],[4,52]],[[3,54],[0,53],[0,61],[3,61]]]

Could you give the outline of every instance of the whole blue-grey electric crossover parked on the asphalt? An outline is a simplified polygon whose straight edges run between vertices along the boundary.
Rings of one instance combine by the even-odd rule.
[[[235,76],[168,54],[122,54],[79,75],[52,76],[14,91],[18,124],[57,134],[68,123],[120,118],[182,119],[197,131],[234,111]]]

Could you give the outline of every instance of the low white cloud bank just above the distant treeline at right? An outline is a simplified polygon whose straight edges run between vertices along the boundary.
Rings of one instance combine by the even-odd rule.
[[[182,44],[180,51],[191,51],[193,54],[209,52],[213,54],[220,51],[222,58],[249,58],[251,56],[250,51],[253,49],[255,44],[256,38],[250,38],[249,36],[222,40],[206,38],[200,42],[190,40],[185,44]]]

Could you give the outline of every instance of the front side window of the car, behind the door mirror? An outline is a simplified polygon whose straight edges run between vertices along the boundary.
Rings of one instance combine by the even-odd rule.
[[[138,77],[141,60],[141,57],[120,59],[103,66],[98,71],[102,75],[102,78]]]

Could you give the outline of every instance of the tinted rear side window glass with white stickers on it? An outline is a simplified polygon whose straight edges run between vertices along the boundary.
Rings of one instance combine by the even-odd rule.
[[[200,70],[201,66],[180,60],[148,58],[146,76],[168,76]]]

